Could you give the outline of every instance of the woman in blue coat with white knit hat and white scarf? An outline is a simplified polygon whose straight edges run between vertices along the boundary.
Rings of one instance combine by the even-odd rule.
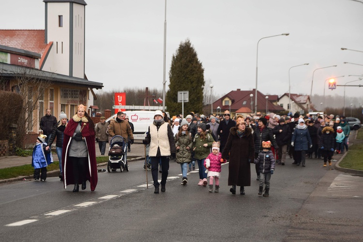
[[[302,163],[302,166],[305,166],[305,154],[309,148],[313,147],[313,142],[305,121],[301,118],[292,135],[291,146],[294,147],[296,166],[300,166],[300,163]]]

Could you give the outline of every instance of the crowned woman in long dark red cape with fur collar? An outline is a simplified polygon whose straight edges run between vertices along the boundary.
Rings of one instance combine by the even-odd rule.
[[[91,191],[97,185],[97,162],[94,144],[94,123],[86,112],[86,106],[79,105],[75,116],[64,130],[62,167],[64,189],[75,184],[73,192],[78,192],[79,184],[86,189],[86,181],[91,183]]]

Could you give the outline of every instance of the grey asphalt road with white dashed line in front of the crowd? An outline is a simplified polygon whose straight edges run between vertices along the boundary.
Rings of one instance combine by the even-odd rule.
[[[220,193],[181,186],[170,163],[166,193],[146,189],[142,161],[129,172],[99,173],[95,192],[73,193],[58,178],[0,185],[2,241],[360,241],[363,178],[323,168],[277,166],[270,197],[257,196],[254,167],[246,195],[232,196],[228,164]],[[106,168],[106,167],[103,167]],[[149,181],[151,173],[149,171]],[[88,184],[89,185],[89,184]],[[150,185],[150,183],[149,183]]]

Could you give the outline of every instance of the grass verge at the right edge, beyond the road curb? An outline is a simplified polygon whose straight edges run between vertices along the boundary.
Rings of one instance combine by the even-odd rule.
[[[343,168],[363,170],[363,130],[359,129],[356,142],[349,147],[349,151],[344,159],[339,163]]]

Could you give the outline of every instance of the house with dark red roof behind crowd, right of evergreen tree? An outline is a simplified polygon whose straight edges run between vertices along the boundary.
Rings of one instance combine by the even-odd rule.
[[[255,89],[250,91],[242,91],[241,89],[230,91],[213,103],[213,108],[216,109],[215,113],[223,113],[225,110],[230,111],[231,116],[234,116],[236,113],[256,113],[255,93]],[[253,94],[252,97],[251,94]],[[260,91],[257,91],[257,112],[280,113],[285,111],[282,106],[275,104],[277,102],[278,96],[271,96],[272,98],[270,99],[270,96],[264,95]]]

